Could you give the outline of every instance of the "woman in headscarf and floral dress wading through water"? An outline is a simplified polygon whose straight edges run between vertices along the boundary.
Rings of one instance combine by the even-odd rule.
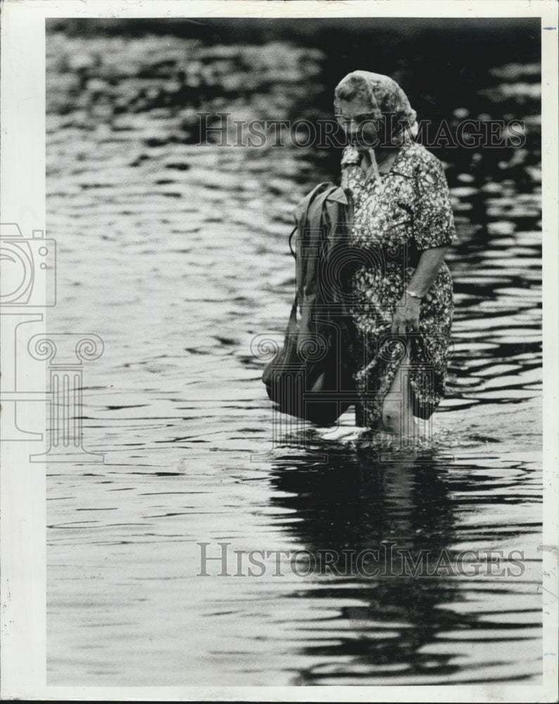
[[[334,110],[349,142],[341,186],[354,203],[356,423],[415,434],[414,416],[427,420],[444,396],[453,316],[444,256],[456,239],[448,186],[439,160],[413,141],[415,111],[394,80],[353,71]]]

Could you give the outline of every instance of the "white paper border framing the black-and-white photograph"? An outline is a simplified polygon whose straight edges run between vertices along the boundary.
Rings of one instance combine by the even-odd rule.
[[[46,18],[541,18],[542,237],[544,331],[544,679],[517,684],[318,687],[61,687],[46,685],[46,480],[31,465],[25,442],[1,442],[1,698],[44,700],[284,700],[284,701],[555,701],[558,681],[558,2],[556,0],[5,0],[1,8],[0,222],[24,235],[46,232]],[[37,308],[37,322],[44,320]],[[4,318],[4,316],[3,316]],[[9,316],[6,316],[9,318]],[[15,320],[15,319],[14,319]],[[4,372],[18,350],[1,321]],[[13,322],[13,320],[11,320]],[[36,328],[39,332],[40,327]],[[32,376],[34,372],[30,371]],[[44,388],[38,374],[30,388]],[[7,395],[6,395],[7,394]],[[15,403],[15,402],[13,402]],[[30,426],[44,424],[44,405],[30,403]],[[4,407],[4,403],[3,403]],[[32,407],[32,408],[31,408]],[[6,414],[0,437],[5,437]]]

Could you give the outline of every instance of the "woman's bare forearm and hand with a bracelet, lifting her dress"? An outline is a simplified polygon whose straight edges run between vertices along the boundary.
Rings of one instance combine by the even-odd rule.
[[[436,275],[444,262],[448,246],[429,247],[422,252],[417,268],[413,272],[408,287],[396,304],[392,321],[392,334],[405,335],[406,332],[419,332],[419,315],[421,298],[432,287]],[[420,298],[410,296],[407,291]]]

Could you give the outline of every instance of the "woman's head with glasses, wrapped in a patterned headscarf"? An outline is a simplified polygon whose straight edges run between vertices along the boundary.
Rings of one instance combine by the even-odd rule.
[[[352,141],[363,137],[369,146],[371,139],[398,144],[415,127],[415,110],[401,87],[389,76],[369,71],[348,73],[337,84],[334,113]]]

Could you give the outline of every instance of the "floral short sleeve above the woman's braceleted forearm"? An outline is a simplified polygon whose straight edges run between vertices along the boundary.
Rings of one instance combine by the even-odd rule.
[[[422,160],[416,175],[413,239],[420,250],[458,239],[443,165],[430,156]]]

